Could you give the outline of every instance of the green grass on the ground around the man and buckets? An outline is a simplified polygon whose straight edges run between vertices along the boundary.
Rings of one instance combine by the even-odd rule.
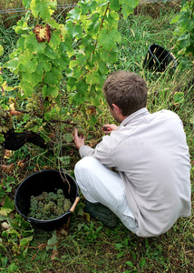
[[[191,59],[182,56],[174,74],[170,74],[168,71],[156,74],[142,68],[142,61],[148,46],[152,43],[164,46],[171,50],[175,56],[178,56],[178,50],[174,47],[175,39],[172,35],[175,26],[170,25],[170,19],[174,16],[174,8],[164,4],[162,6],[165,8],[157,10],[157,6],[154,5],[156,14],[154,18],[144,6],[137,15],[131,15],[128,20],[121,20],[120,53],[118,62],[112,69],[129,69],[146,78],[149,86],[148,108],[150,112],[166,108],[180,116],[187,135],[191,163],[194,166],[194,87]],[[11,27],[1,26],[0,39],[1,41],[4,39],[4,43],[7,45],[5,56],[1,59],[1,62],[4,63],[10,50],[8,45],[15,43],[16,39]],[[10,82],[15,85],[16,80],[12,78]],[[177,93],[178,95],[183,94],[180,100],[176,99]],[[73,110],[70,109],[71,111]],[[102,132],[99,127],[107,121],[112,122],[112,117],[108,114],[108,107],[99,106],[97,112],[100,114],[98,126],[87,125],[87,120],[90,117],[85,115],[84,107],[77,116],[77,122],[87,131],[87,139],[90,144],[92,141],[95,144],[96,139],[100,141]],[[66,127],[63,133],[71,133],[72,130],[73,128]],[[60,153],[57,145],[56,151]],[[2,172],[1,177],[1,183],[3,180],[14,179],[12,191],[8,193],[9,197],[14,198],[18,185],[34,171],[63,167],[58,160],[57,153],[53,156],[48,151],[40,150],[33,145],[26,145],[13,152],[9,157],[2,157],[2,164],[15,164],[15,169],[11,173]],[[63,153],[71,155],[71,161],[64,167],[73,176],[74,164],[80,158],[78,152],[71,146],[66,147]],[[24,158],[26,162],[25,167],[22,168],[20,164]],[[194,189],[193,178],[194,167],[191,170],[192,192]],[[45,232],[37,227],[34,227],[33,240],[26,248],[26,253],[20,248],[15,248],[16,238],[14,235],[11,238],[10,235],[9,240],[5,243],[5,248],[0,253],[0,271],[4,273],[14,271],[35,273],[189,273],[194,270],[194,219],[192,216],[179,218],[166,234],[158,238],[137,238],[120,221],[115,228],[111,229],[102,226],[101,222],[89,219],[83,213],[83,203],[84,200],[81,198],[81,202],[71,217],[70,225],[56,231],[57,248],[54,248],[55,245],[53,245],[46,250],[49,240],[54,238],[54,233]],[[22,238],[28,229],[22,230],[21,227],[18,227],[16,230]],[[3,234],[4,231],[4,227],[1,226],[0,233]],[[30,235],[31,233],[29,233]],[[4,238],[3,235],[1,238]]]

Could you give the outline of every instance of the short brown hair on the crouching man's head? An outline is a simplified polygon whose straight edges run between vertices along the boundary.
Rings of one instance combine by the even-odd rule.
[[[107,103],[119,106],[122,116],[130,116],[146,106],[148,89],[141,76],[130,71],[113,72],[104,82]]]

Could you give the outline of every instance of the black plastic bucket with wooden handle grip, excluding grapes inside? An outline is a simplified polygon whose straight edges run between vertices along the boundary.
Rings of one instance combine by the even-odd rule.
[[[56,192],[58,188],[63,189],[64,197],[70,199],[72,203],[72,206],[69,207],[62,216],[50,220],[40,220],[28,217],[31,196],[39,196],[44,191]],[[20,184],[15,193],[15,208],[19,214],[27,221],[44,230],[53,230],[63,227],[73,213],[74,207],[78,201],[79,189],[73,177],[52,169],[43,170],[27,177]]]

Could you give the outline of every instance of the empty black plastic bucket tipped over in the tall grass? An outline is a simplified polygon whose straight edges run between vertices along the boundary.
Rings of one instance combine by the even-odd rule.
[[[143,61],[143,67],[156,72],[163,72],[167,68],[175,69],[177,61],[170,51],[160,45],[150,45],[149,51]]]

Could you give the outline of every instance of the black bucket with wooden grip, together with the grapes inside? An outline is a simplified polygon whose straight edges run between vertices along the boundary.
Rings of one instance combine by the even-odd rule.
[[[53,230],[63,227],[79,199],[73,177],[49,169],[24,179],[15,193],[15,208],[35,226]]]

